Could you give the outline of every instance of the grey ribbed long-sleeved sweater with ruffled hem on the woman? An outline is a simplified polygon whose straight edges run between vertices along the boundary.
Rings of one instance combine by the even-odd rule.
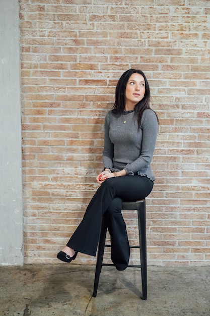
[[[123,117],[124,116],[124,117]],[[125,169],[127,175],[155,177],[151,161],[155,150],[158,122],[155,113],[144,111],[141,128],[137,128],[134,112],[116,116],[109,111],[105,118],[103,164],[111,171]],[[123,122],[126,120],[126,123]]]

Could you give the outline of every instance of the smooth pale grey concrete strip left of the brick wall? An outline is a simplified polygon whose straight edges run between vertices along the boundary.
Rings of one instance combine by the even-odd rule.
[[[19,2],[0,2],[0,265],[23,264]]]

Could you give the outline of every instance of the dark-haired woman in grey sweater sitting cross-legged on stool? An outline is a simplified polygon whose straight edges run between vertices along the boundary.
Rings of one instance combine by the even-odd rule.
[[[150,87],[141,70],[120,77],[115,103],[105,118],[103,171],[84,218],[57,258],[71,262],[78,252],[96,255],[104,216],[111,237],[111,259],[117,270],[128,266],[130,248],[121,214],[123,200],[141,200],[150,194],[155,177],[151,161],[158,118],[150,108]]]

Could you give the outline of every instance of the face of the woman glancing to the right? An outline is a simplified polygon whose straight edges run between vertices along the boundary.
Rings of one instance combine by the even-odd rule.
[[[125,110],[134,109],[135,104],[145,96],[145,79],[142,75],[134,73],[128,79],[125,88]]]

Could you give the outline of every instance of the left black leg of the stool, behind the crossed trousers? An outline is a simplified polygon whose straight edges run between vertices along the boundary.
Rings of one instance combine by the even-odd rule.
[[[106,232],[107,232],[107,227],[105,224],[105,220],[103,218],[102,223],[101,223],[101,234],[100,234],[99,245],[98,245],[98,255],[97,255],[97,261],[96,261],[96,272],[95,272],[95,280],[94,280],[94,288],[93,288],[93,297],[96,297],[96,295],[97,295],[99,277],[100,277],[100,273],[101,273],[102,261],[103,261],[103,256],[104,256]]]

